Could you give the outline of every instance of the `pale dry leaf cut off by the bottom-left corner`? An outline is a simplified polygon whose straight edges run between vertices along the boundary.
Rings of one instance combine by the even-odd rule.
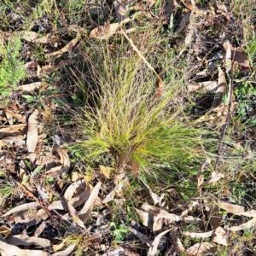
[[[40,250],[22,250],[19,247],[0,241],[0,252],[2,256],[49,256],[49,253]]]

